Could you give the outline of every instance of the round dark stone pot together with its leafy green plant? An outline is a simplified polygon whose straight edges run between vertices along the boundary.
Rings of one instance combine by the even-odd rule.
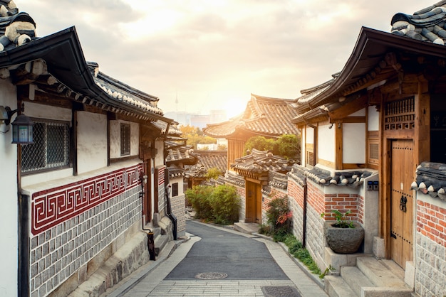
[[[358,222],[346,220],[351,210],[345,213],[333,210],[336,222],[326,222],[325,237],[328,247],[338,254],[351,254],[358,251],[364,239],[364,229]],[[325,213],[321,214],[324,217]]]

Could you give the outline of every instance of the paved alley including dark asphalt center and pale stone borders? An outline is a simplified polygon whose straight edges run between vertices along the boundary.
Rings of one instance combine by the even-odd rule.
[[[118,296],[326,296],[275,242],[187,221],[190,239]]]

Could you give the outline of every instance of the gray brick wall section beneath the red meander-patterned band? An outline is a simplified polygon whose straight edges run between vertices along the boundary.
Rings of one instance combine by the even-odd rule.
[[[139,187],[31,238],[32,297],[51,293],[141,220]]]

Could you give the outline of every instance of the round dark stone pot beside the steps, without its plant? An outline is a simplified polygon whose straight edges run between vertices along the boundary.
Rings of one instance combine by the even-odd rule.
[[[338,254],[352,254],[358,251],[364,239],[364,228],[353,222],[354,228],[334,227],[336,222],[326,222],[325,236],[328,247]]]

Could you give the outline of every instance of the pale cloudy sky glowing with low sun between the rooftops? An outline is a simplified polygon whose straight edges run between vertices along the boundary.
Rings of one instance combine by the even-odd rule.
[[[76,26],[85,60],[160,97],[164,112],[232,117],[251,93],[294,99],[329,80],[361,26],[390,32],[395,13],[438,0],[14,1],[38,36]]]

